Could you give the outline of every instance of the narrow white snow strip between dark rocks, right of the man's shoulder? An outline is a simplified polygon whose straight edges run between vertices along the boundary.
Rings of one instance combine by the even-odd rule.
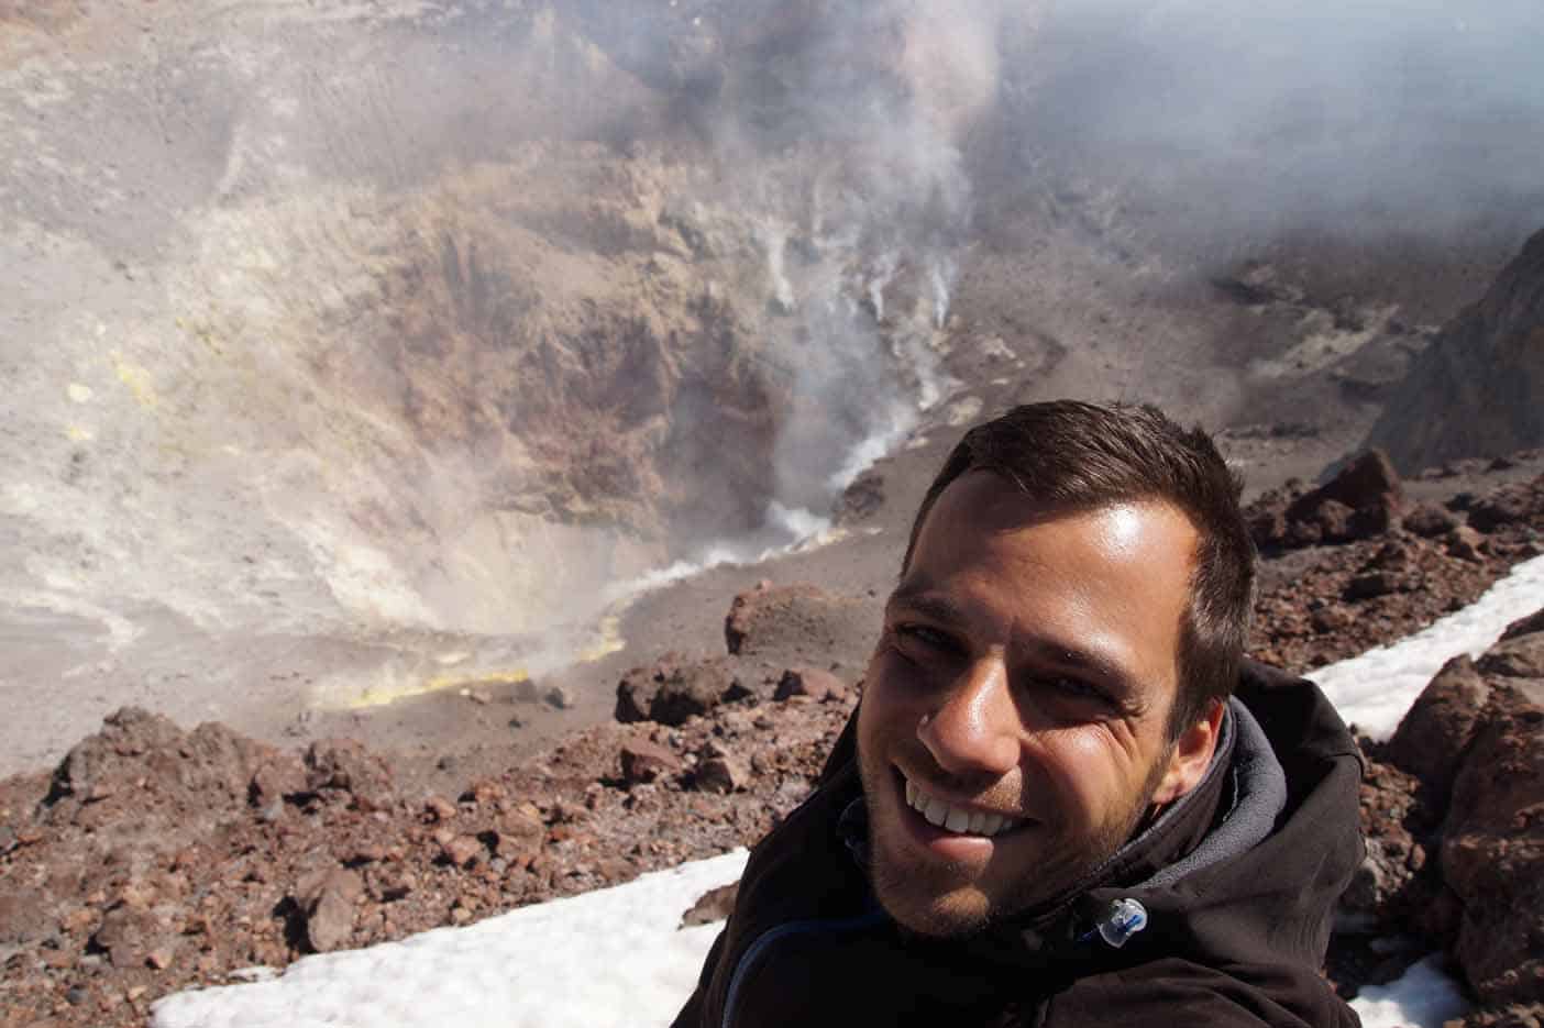
[[[1374,739],[1388,738],[1427,682],[1461,653],[1479,656],[1508,624],[1544,607],[1544,557],[1516,565],[1478,600],[1388,647],[1309,671],[1336,710]]]

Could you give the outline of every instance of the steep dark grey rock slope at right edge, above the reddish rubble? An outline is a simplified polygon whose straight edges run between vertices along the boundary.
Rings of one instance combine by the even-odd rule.
[[[1414,472],[1544,443],[1544,232],[1388,395],[1368,445]]]

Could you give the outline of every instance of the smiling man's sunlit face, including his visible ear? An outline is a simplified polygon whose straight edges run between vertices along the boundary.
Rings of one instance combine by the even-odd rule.
[[[985,471],[943,491],[858,713],[897,921],[963,935],[1048,900],[1200,778],[1210,733],[1164,735],[1195,543],[1166,503],[1067,512]]]

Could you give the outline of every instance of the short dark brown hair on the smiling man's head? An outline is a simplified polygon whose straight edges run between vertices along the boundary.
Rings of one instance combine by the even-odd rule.
[[[1070,509],[1163,500],[1195,526],[1190,602],[1180,625],[1180,693],[1169,715],[1177,739],[1238,682],[1254,611],[1254,542],[1238,500],[1243,482],[1210,437],[1156,407],[1076,400],[1031,403],[977,424],[954,446],[911,523],[902,570],[939,495],[967,471],[1004,475],[1024,492]]]

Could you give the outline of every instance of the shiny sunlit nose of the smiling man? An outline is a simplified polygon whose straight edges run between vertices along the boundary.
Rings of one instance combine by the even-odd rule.
[[[997,654],[980,658],[917,725],[917,738],[953,775],[1005,775],[1019,763],[1017,708]]]

